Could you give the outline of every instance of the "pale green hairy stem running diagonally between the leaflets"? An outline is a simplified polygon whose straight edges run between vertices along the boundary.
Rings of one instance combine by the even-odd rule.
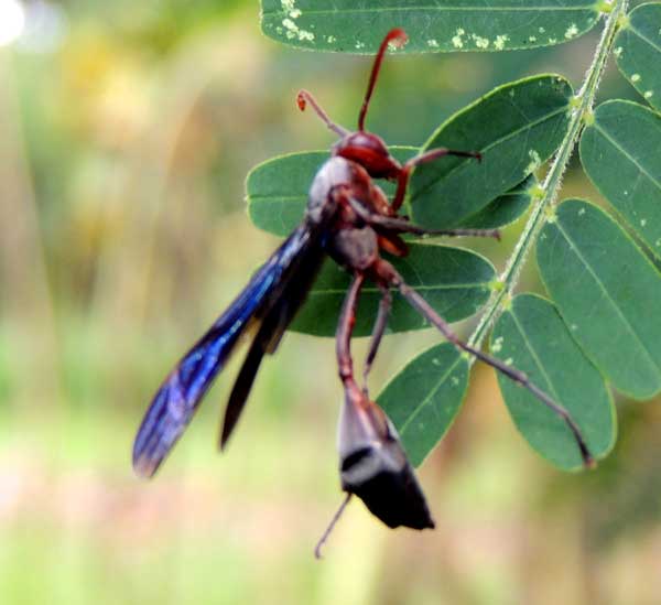
[[[570,163],[572,152],[578,142],[585,120],[592,114],[595,95],[599,83],[602,82],[602,76],[604,75],[606,61],[613,48],[615,35],[621,22],[620,20],[626,14],[627,4],[628,0],[615,0],[613,4],[605,4],[609,10],[606,17],[606,25],[604,26],[602,39],[599,40],[593,62],[585,75],[583,85],[574,98],[567,132],[543,184],[537,192],[538,195],[535,195],[533,209],[523,233],[517,242],[514,251],[512,252],[505,271],[500,276],[497,288],[495,288],[491,293],[491,298],[487,303],[486,310],[483,313],[477,327],[468,339],[468,344],[474,347],[481,346],[489,329],[509,304],[511,293],[517,287],[525,259],[537,241],[540,230],[550,214],[550,209],[557,201],[562,186],[562,177]],[[473,361],[475,361],[474,358],[470,359],[470,363]]]

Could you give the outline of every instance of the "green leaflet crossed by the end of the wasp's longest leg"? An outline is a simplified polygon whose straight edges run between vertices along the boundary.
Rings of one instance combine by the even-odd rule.
[[[604,378],[551,302],[531,294],[514,298],[494,328],[490,348],[570,412],[595,458],[613,447],[615,409]],[[506,376],[498,374],[498,383],[517,429],[532,447],[561,468],[581,468],[581,452],[564,420]]]

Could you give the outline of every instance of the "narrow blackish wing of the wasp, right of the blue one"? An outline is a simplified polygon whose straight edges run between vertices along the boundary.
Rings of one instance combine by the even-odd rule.
[[[281,295],[264,315],[229,396],[220,433],[220,447],[225,447],[227,444],[227,440],[243,411],[262,357],[266,353],[272,354],[278,348],[284,331],[312,288],[322,259],[321,249],[317,255],[299,256],[295,261],[296,269],[292,271],[292,279],[283,283]]]

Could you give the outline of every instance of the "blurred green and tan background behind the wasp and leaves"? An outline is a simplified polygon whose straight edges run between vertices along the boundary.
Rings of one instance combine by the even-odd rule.
[[[254,1],[18,2],[0,0],[0,603],[659,603],[653,402],[619,400],[616,451],[562,475],[477,365],[420,472],[436,530],[389,531],[354,503],[316,562],[340,500],[342,393],[333,343],[289,335],[225,455],[238,360],[158,477],[138,480],[150,397],[277,244],[247,219],[245,175],[332,143],[295,108],[301,87],[351,126],[370,60],[278,46]],[[497,84],[553,71],[577,85],[595,41],[389,58],[369,128],[420,144]],[[630,91],[611,69],[614,94]],[[578,171],[565,191],[597,199]],[[481,250],[502,267],[520,228]],[[434,342],[386,338],[372,390]]]

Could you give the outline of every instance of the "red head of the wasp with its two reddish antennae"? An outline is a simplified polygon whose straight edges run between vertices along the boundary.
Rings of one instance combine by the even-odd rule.
[[[330,121],[326,112],[306,90],[301,90],[296,99],[299,108],[302,111],[305,109],[306,104],[310,102],[326,126],[342,137],[342,139],[333,147],[333,155],[340,155],[342,158],[346,158],[347,160],[360,164],[370,176],[376,179],[397,179],[401,171],[401,165],[392,155],[390,155],[383,139],[365,130],[365,117],[388,45],[403,46],[408,40],[404,30],[397,28],[390,30],[381,42],[369,76],[369,83],[367,85],[367,91],[365,94],[365,99],[362,100],[360,114],[358,115],[358,130],[356,132],[349,132],[342,126]]]

